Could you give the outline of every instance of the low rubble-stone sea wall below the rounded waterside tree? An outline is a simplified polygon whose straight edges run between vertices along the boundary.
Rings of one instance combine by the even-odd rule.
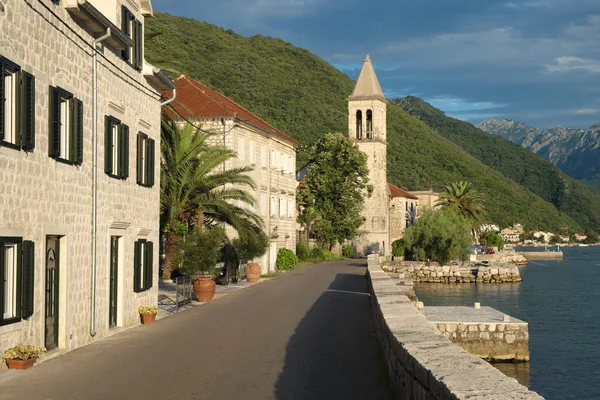
[[[400,261],[383,267],[388,272],[410,274],[415,282],[428,283],[512,283],[521,282],[519,268],[495,263],[481,266],[472,263],[444,265],[431,262]]]

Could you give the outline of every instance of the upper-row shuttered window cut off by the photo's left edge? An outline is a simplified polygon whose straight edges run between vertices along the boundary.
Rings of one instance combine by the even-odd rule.
[[[33,151],[35,78],[0,57],[0,145]]]

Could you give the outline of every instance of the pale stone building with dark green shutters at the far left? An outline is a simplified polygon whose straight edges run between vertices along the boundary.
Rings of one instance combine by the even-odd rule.
[[[144,61],[149,0],[0,6],[0,354],[60,354],[157,303],[160,93],[174,86]]]

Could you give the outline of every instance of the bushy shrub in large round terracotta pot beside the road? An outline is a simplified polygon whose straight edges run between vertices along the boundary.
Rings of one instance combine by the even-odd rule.
[[[215,295],[215,267],[225,239],[220,227],[200,227],[176,242],[179,270],[194,278],[194,293],[200,302],[210,301]]]

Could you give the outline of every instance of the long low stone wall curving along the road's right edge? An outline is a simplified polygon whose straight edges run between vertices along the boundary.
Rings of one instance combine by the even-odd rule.
[[[399,399],[543,399],[451,343],[379,263],[368,261],[375,333]]]

